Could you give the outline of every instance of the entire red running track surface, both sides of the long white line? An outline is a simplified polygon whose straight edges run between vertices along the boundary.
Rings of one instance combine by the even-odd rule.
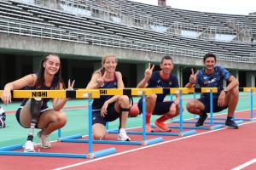
[[[244,112],[241,113],[244,116]],[[240,115],[237,114],[238,116]],[[191,125],[194,126],[194,125]],[[150,146],[94,144],[94,150],[115,147],[117,154],[97,159],[73,159],[33,156],[0,156],[0,169],[232,169],[256,157],[256,122],[245,122],[238,130],[198,130],[188,137],[164,137]],[[173,130],[175,132],[175,130]],[[131,136],[141,139],[141,136]],[[154,138],[156,136],[148,136]],[[109,135],[115,139],[116,135]],[[61,151],[60,151],[61,150]],[[59,143],[50,152],[83,153],[85,144]],[[72,167],[73,166],[73,167]],[[256,169],[256,163],[245,169]]]

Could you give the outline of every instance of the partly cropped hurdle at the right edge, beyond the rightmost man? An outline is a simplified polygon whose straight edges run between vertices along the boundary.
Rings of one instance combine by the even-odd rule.
[[[233,115],[234,121],[255,121],[256,117],[253,116],[253,92],[256,92],[256,88],[239,88],[240,92],[250,92],[250,118],[236,118],[235,114]],[[214,117],[215,120],[225,120],[225,118]]]

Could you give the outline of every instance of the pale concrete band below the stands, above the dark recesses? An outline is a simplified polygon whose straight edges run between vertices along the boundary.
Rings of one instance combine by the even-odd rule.
[[[61,42],[55,40],[41,39],[35,37],[22,37],[15,35],[7,35],[0,33],[0,53],[26,53],[33,56],[42,55],[45,53],[60,54],[61,57],[72,59],[87,59],[100,60],[103,54],[116,54],[120,61],[129,61],[133,63],[160,63],[161,56],[164,54],[156,54],[152,52],[143,52],[137,50],[130,50],[124,48],[107,48],[102,46],[93,46],[84,43],[75,42]],[[172,55],[173,61],[176,65],[203,65],[202,59],[199,62],[198,58],[184,57]],[[256,71],[255,64],[245,64],[236,62],[218,61],[218,64],[226,68],[242,69]]]

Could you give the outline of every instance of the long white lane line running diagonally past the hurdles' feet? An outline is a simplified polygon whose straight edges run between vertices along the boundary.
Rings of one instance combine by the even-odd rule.
[[[250,124],[250,123],[253,123],[253,122],[241,123],[239,126]],[[66,167],[58,167],[58,168],[55,168],[54,170],[62,170],[62,169],[67,169],[69,167],[77,167],[77,166],[80,166],[80,165],[83,165],[83,164],[86,164],[86,163],[90,163],[90,162],[93,162],[93,161],[99,161],[99,160],[107,159],[107,158],[113,157],[113,156],[120,156],[120,155],[130,153],[130,152],[134,152],[134,151],[137,151],[137,150],[144,150],[144,149],[154,147],[154,146],[157,146],[157,145],[160,145],[160,144],[167,144],[167,143],[176,142],[176,141],[179,141],[179,140],[182,140],[182,139],[189,139],[189,138],[192,138],[192,137],[195,137],[195,136],[200,136],[202,134],[213,133],[213,132],[217,132],[217,131],[220,131],[220,130],[224,130],[226,128],[227,127],[212,130],[212,131],[207,131],[207,132],[204,132],[204,133],[196,133],[196,134],[193,134],[193,135],[190,135],[190,136],[185,136],[185,137],[181,137],[181,138],[178,138],[178,139],[167,140],[167,141],[164,141],[164,142],[160,142],[160,143],[157,143],[157,144],[151,144],[151,145],[148,145],[148,146],[143,146],[143,147],[136,148],[136,149],[133,149],[133,150],[126,150],[126,151],[119,152],[119,153],[116,153],[116,154],[113,154],[113,155],[99,157],[99,158],[96,158],[96,159],[93,159],[93,160],[90,160],[90,161],[82,161],[82,162],[75,163],[75,164],[72,164],[72,165],[69,165],[69,166],[66,166]]]

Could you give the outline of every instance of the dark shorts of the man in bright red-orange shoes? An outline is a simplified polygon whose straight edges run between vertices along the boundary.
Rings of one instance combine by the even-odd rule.
[[[170,111],[170,107],[173,101],[156,102],[152,115],[165,115]],[[140,99],[137,103],[138,109],[143,112],[143,99]]]

